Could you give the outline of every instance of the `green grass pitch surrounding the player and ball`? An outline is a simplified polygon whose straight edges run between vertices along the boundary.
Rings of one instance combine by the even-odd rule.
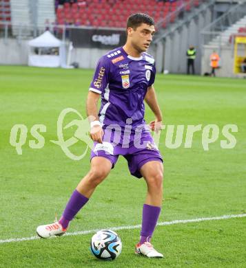
[[[92,70],[0,67],[0,240],[35,236],[37,225],[60,216],[77,183],[88,172],[90,154],[72,161],[59,146],[57,118],[68,107],[85,117]],[[165,124],[216,124],[220,135],[203,150],[201,131],[192,148],[159,148],[165,159],[163,210],[159,221],[246,213],[246,81],[199,76],[156,76]],[[70,115],[73,119],[72,115]],[[153,120],[150,109],[145,118]],[[76,118],[77,119],[77,118]],[[14,124],[25,124],[22,155],[10,145]],[[45,145],[31,149],[30,129],[44,124]],[[225,124],[236,124],[236,146],[221,148]],[[75,129],[65,133],[72,137]],[[72,146],[80,153],[84,144]],[[143,179],[134,179],[120,158],[110,176],[72,221],[69,232],[141,223]],[[139,229],[117,231],[123,251],[112,262],[90,254],[92,234],[0,243],[0,267],[246,267],[246,218],[156,227],[152,242],[165,258],[135,256]]]

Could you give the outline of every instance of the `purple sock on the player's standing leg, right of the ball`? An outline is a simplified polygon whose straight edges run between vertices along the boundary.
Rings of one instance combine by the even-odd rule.
[[[158,217],[160,215],[161,208],[155,207],[154,205],[143,205],[143,217],[142,217],[142,229],[141,229],[141,238],[139,243],[143,244],[146,241],[150,242],[150,238],[156,227]]]

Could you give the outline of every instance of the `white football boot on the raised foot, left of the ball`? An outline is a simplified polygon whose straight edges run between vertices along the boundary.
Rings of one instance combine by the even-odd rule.
[[[65,231],[66,230],[63,229],[63,227],[58,221],[46,225],[40,225],[39,227],[37,227],[37,234],[41,238],[49,238],[51,236],[62,236],[63,234],[65,234]]]

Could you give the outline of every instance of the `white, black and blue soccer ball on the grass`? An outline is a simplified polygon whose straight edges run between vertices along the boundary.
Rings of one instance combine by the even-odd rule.
[[[114,260],[121,254],[121,238],[111,230],[96,232],[90,241],[90,250],[96,258]]]

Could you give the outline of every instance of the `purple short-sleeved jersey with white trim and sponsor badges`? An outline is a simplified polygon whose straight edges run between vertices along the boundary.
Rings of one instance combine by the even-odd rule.
[[[103,127],[118,124],[124,128],[128,118],[132,118],[132,131],[145,124],[143,100],[155,74],[154,58],[145,52],[134,58],[119,47],[100,58],[90,91],[101,94]]]

